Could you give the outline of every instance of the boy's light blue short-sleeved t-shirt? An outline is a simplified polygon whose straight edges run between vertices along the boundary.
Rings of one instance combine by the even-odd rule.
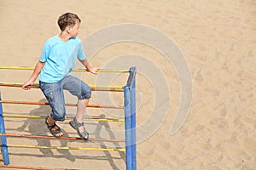
[[[63,77],[70,75],[76,60],[84,60],[84,49],[79,37],[72,37],[67,42],[58,35],[50,37],[45,43],[40,58],[45,62],[39,81],[59,82]]]

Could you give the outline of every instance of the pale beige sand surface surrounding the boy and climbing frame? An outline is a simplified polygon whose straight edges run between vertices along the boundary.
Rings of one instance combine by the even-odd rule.
[[[137,66],[137,169],[256,169],[255,0],[0,0],[0,66],[36,65],[44,42],[59,33],[57,18],[66,12],[82,20],[79,38],[90,65],[103,69]],[[125,32],[129,26],[131,31]],[[112,33],[97,37],[97,32],[107,28]],[[186,62],[173,64],[161,50],[169,48],[167,40],[144,28],[168,37]],[[136,37],[115,40],[122,32]],[[182,84],[184,72],[177,73],[177,66],[186,67],[183,64],[191,74],[184,78],[192,84]],[[83,67],[78,63],[77,68]],[[26,82],[31,73],[0,70],[0,82]],[[127,74],[117,73],[73,75],[96,85],[124,86],[127,80]],[[170,133],[185,85],[192,85],[189,114],[177,133]],[[5,100],[45,101],[38,89],[0,87],[0,91]],[[70,94],[65,97],[67,103],[76,103]],[[124,105],[123,94],[93,92],[90,104]],[[3,104],[5,114],[47,116],[49,111],[48,106]],[[74,115],[75,108],[67,107],[67,116]],[[120,119],[124,111],[88,108],[85,115]],[[50,135],[43,119],[4,119],[6,133]],[[125,139],[123,122],[85,124],[91,138]],[[68,120],[59,125],[65,136],[78,137]],[[8,138],[8,144],[124,147],[123,143],[17,138]],[[9,160],[9,166],[20,167],[125,169],[121,151],[9,148]]]

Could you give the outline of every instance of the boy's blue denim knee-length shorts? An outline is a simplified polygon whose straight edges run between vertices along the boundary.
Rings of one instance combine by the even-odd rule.
[[[55,121],[65,121],[65,99],[63,90],[69,91],[78,99],[89,99],[90,87],[77,77],[67,76],[59,82],[39,82],[39,87],[44,93],[51,107],[50,116]]]

